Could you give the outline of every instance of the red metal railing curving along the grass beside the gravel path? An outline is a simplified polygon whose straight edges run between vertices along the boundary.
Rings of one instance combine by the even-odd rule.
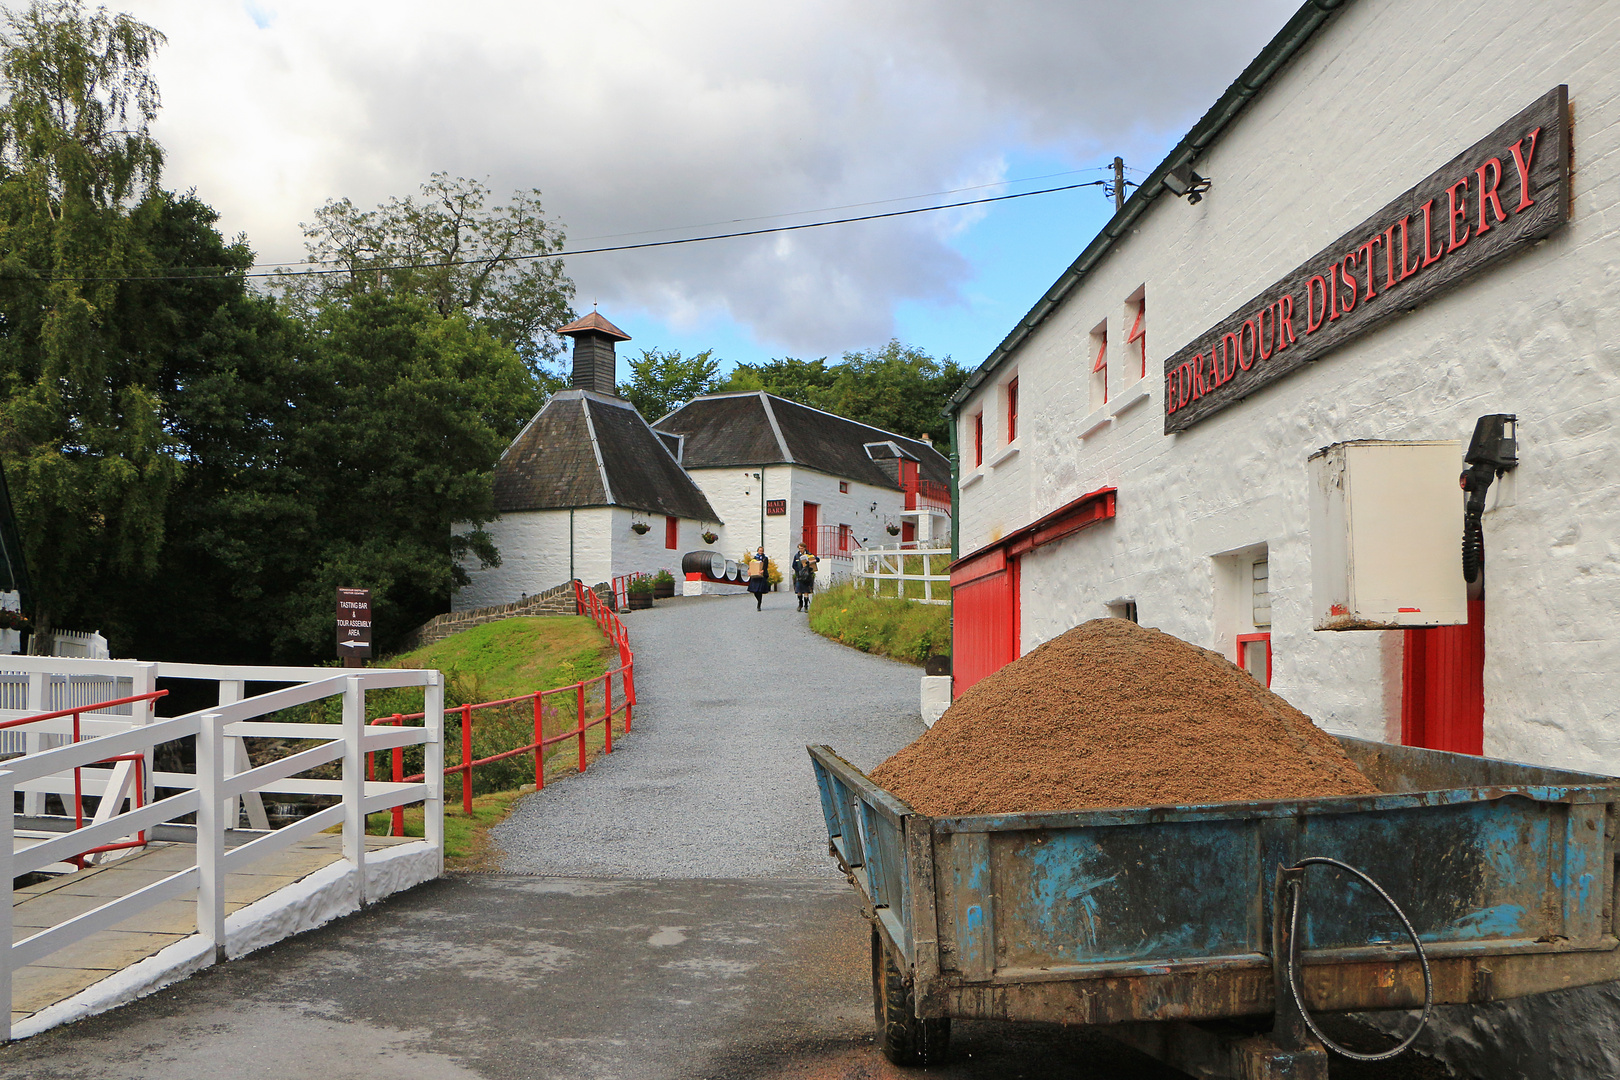
[[[601,597],[595,591],[585,588],[578,581],[573,583],[573,602],[575,609],[582,615],[588,615],[596,622],[596,627],[606,635],[609,644],[619,651],[619,667],[603,672],[595,678],[582,678],[580,682],[569,683],[567,687],[552,687],[551,690],[536,690],[535,693],[518,695],[515,698],[502,698],[499,701],[481,701],[478,704],[462,704],[446,712],[458,712],[462,717],[462,761],[458,764],[450,764],[444,767],[444,774],[450,776],[458,772],[462,776],[462,811],[471,816],[473,813],[473,769],[483,764],[491,764],[494,761],[505,761],[507,758],[517,758],[518,755],[535,755],[535,790],[544,790],[546,787],[546,750],[556,746],[561,742],[575,740],[578,743],[580,753],[580,772],[585,772],[585,732],[593,727],[601,725],[603,729],[603,751],[612,753],[612,721],[614,712],[624,712],[624,733],[630,733],[632,712],[635,709],[635,654],[630,651],[630,635],[614,614],[611,607],[601,602]],[[619,678],[620,699],[619,708],[614,706],[612,682],[614,677]],[[586,719],[586,698],[591,696],[590,690],[601,683],[603,687],[603,712],[601,716]],[[544,730],[544,714],[546,714],[546,698],[569,695],[573,698],[573,727],[556,735],[546,735]],[[489,755],[488,758],[473,758],[473,712],[478,709],[494,709],[502,706],[512,706],[520,701],[531,701],[535,706],[535,738],[522,746],[514,746],[512,750],[504,750],[497,755]],[[395,712],[394,716],[371,721],[374,727],[387,727],[394,724],[403,724],[405,721],[420,721],[421,712],[411,712],[408,716]],[[403,776],[405,772],[405,750],[403,746],[394,748],[394,782],[395,784],[420,784],[423,776]],[[377,763],[376,753],[366,755],[366,776],[368,779],[376,779]],[[394,808],[392,821],[394,836],[405,836],[405,810],[402,806]]]

